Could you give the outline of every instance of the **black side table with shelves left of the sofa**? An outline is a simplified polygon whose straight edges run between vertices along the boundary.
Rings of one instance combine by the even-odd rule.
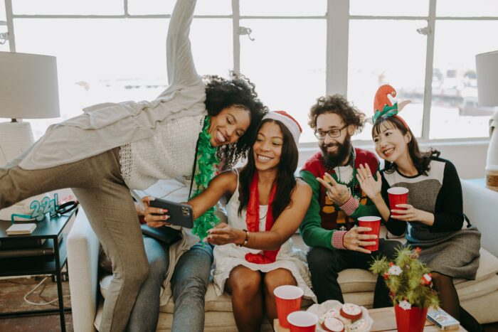
[[[36,314],[59,313],[60,330],[65,332],[64,312],[70,312],[70,308],[64,307],[62,291],[62,269],[68,262],[66,252],[66,240],[64,228],[71,218],[75,218],[78,209],[58,218],[45,218],[36,223],[36,229],[29,235],[7,235],[6,230],[11,226],[9,220],[0,220],[0,241],[14,241],[16,238],[46,239],[48,247],[53,247],[53,255],[33,257],[12,257],[0,259],[0,277],[14,277],[39,274],[53,274],[57,279],[57,295],[59,309],[42,309],[36,311],[16,311],[1,313],[0,317],[28,316]],[[60,241],[58,239],[60,238]]]

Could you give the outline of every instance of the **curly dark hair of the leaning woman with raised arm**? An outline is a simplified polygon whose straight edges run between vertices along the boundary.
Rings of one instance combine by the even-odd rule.
[[[242,74],[231,71],[229,79],[206,75],[203,76],[203,81],[206,85],[206,109],[209,116],[216,116],[222,109],[230,106],[243,108],[250,113],[250,125],[243,136],[235,143],[220,146],[216,153],[223,170],[232,168],[240,158],[246,156],[254,141],[256,128],[268,108],[258,98],[254,83]]]

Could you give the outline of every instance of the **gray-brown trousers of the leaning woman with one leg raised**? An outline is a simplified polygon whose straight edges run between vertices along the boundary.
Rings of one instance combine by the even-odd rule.
[[[149,273],[142,232],[129,188],[120,172],[120,148],[82,161],[25,170],[0,168],[0,208],[48,191],[73,188],[90,225],[112,262],[100,332],[124,331]]]

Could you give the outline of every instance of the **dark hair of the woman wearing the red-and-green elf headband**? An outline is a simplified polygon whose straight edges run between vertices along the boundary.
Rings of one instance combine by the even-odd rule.
[[[430,171],[430,157],[435,156],[438,157],[440,155],[440,151],[430,148],[428,151],[422,152],[418,147],[418,141],[415,139],[415,135],[411,132],[410,128],[406,127],[399,117],[379,117],[377,121],[373,124],[372,127],[372,137],[378,134],[381,134],[381,124],[384,126],[388,126],[391,124],[391,127],[401,130],[403,136],[406,133],[410,134],[410,141],[408,142],[408,154],[413,161],[413,165],[417,169],[419,174],[427,175],[428,171]],[[386,173],[393,173],[396,170],[396,164],[391,163],[391,161],[386,161],[386,165],[384,166],[384,171]]]

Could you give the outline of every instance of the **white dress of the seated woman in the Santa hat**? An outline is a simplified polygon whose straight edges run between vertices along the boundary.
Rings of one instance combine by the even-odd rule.
[[[237,172],[238,176],[238,172]],[[247,228],[245,223],[245,209],[242,214],[238,215],[238,181],[237,189],[226,205],[228,215],[228,225],[240,230]],[[260,205],[260,231],[265,231],[266,214],[268,205]],[[317,301],[313,291],[310,289],[311,282],[309,279],[309,270],[306,263],[306,255],[302,250],[292,247],[292,238],[287,240],[280,251],[278,252],[275,262],[270,264],[255,264],[245,260],[245,254],[248,252],[253,254],[263,253],[263,250],[250,249],[246,247],[238,247],[233,243],[228,245],[217,245],[214,247],[214,287],[216,294],[220,296],[225,289],[225,282],[230,277],[230,272],[234,267],[243,265],[253,271],[270,272],[274,269],[288,269],[292,276],[296,279],[297,287],[304,291],[304,296]]]

